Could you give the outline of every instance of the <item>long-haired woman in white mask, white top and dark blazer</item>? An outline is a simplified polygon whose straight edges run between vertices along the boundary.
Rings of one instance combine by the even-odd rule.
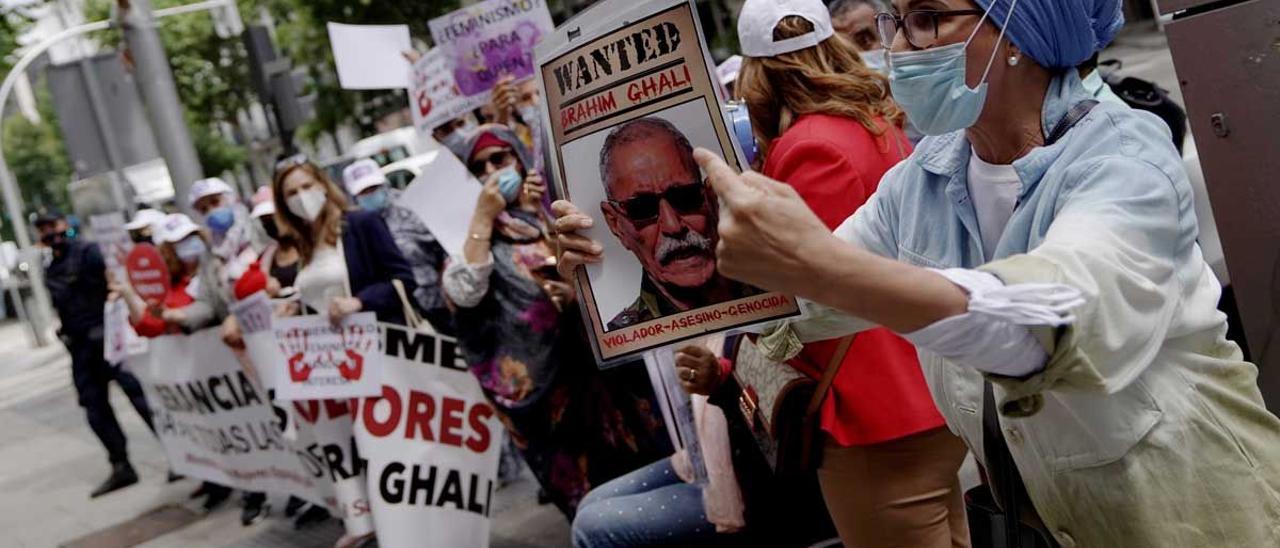
[[[416,286],[387,223],[375,211],[352,211],[342,191],[305,156],[282,160],[271,182],[275,222],[302,257],[296,287],[302,305],[330,320],[369,311],[404,324],[393,282]]]

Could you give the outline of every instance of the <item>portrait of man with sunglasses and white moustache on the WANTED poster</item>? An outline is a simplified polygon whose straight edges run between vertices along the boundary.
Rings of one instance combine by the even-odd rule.
[[[760,293],[716,270],[719,205],[671,122],[639,118],[614,128],[600,149],[600,177],[609,232],[644,268],[640,296],[609,330]]]

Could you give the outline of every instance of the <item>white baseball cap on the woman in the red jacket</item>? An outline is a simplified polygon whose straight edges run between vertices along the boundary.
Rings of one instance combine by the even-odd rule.
[[[813,23],[813,32],[782,41],[773,41],[773,29],[782,19],[800,17]],[[742,55],[772,58],[805,47],[813,47],[829,38],[831,14],[822,0],[746,0],[737,15],[737,41]]]

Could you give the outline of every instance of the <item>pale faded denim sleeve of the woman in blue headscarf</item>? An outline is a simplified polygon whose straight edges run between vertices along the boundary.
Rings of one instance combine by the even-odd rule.
[[[1036,375],[989,375],[1006,412],[1033,414],[1042,392],[1125,389],[1156,359],[1181,302],[1176,260],[1194,239],[1187,196],[1157,166],[1107,157],[1073,168],[1043,243],[983,266],[1006,284],[1065,284],[1083,294],[1074,321],[1032,328],[1048,353]]]

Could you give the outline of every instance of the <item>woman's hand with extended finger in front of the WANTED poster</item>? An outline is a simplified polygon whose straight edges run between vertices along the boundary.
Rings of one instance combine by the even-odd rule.
[[[810,265],[835,237],[800,195],[759,173],[739,174],[709,150],[694,157],[721,198],[721,274],[788,294],[812,289]]]

